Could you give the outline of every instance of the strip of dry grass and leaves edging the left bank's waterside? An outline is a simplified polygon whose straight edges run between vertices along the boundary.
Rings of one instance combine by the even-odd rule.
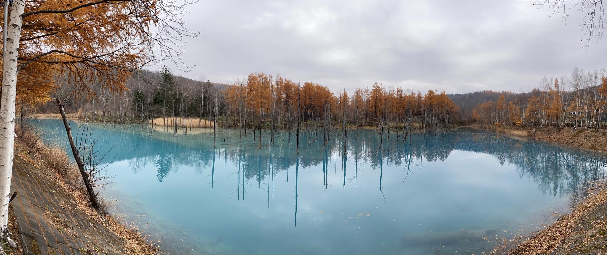
[[[21,130],[18,128],[18,139],[15,141],[15,157],[21,162],[27,162],[34,171],[44,172],[50,169],[54,174],[44,175],[50,182],[56,182],[66,193],[70,200],[75,202],[78,211],[83,217],[88,217],[94,222],[102,224],[105,228],[97,231],[107,231],[123,239],[121,245],[127,254],[158,254],[158,248],[146,242],[143,236],[137,230],[128,228],[114,219],[111,215],[93,210],[90,207],[87,193],[84,190],[82,179],[78,168],[70,163],[70,157],[61,150],[59,146],[44,144],[40,136],[32,129]],[[39,168],[39,170],[37,170]],[[53,191],[54,192],[54,191]],[[106,203],[102,202],[103,205]],[[103,208],[102,208],[103,209]],[[75,227],[75,226],[70,226]]]

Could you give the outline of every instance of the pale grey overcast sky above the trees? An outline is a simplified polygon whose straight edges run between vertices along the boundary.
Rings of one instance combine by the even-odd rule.
[[[580,42],[532,1],[205,1],[189,5],[183,61],[192,79],[234,82],[279,73],[331,90],[373,85],[422,92],[528,90],[543,76],[607,67],[607,41]],[[151,69],[157,69],[153,67]]]

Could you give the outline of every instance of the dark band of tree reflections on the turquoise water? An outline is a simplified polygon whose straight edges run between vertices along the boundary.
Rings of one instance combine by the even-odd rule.
[[[341,186],[350,184],[347,180],[354,180],[354,185],[358,182],[358,170],[362,162],[366,162],[372,169],[379,170],[380,181],[385,178],[384,164],[401,167],[403,171],[412,173],[415,169],[421,169],[423,161],[444,161],[449,157],[453,150],[474,151],[476,153],[486,153],[495,156],[501,164],[514,164],[521,178],[527,177],[538,185],[538,189],[544,194],[552,196],[566,196],[571,194],[572,201],[582,199],[584,190],[589,180],[605,179],[606,160],[604,157],[580,153],[580,151],[571,148],[555,147],[543,142],[524,141],[509,136],[503,136],[488,132],[470,132],[459,131],[446,134],[433,134],[418,136],[413,135],[412,141],[404,142],[401,139],[390,139],[384,141],[381,149],[378,149],[379,136],[373,131],[362,131],[358,140],[356,136],[350,137],[348,142],[348,151],[342,156],[343,144],[341,137],[332,137],[330,144],[323,146],[322,139],[314,140],[310,145],[300,148],[302,151],[299,156],[299,165],[301,168],[308,168],[322,165],[323,184],[325,188],[333,187],[328,181],[333,171],[330,171],[331,161],[341,157],[341,166],[337,164],[335,171],[342,175]],[[314,134],[304,134],[313,136]],[[244,197],[245,180],[257,182],[257,188],[261,185],[270,185],[273,176],[281,171],[288,171],[290,167],[295,167],[298,158],[294,153],[295,148],[281,143],[281,138],[288,139],[288,134],[277,136],[277,142],[274,145],[267,145],[262,149],[255,148],[243,150],[248,144],[219,144],[217,150],[206,148],[203,145],[198,147],[191,146],[188,143],[174,147],[175,141],[163,141],[173,146],[161,146],[148,148],[139,147],[138,153],[131,154],[132,160],[141,161],[141,157],[158,157],[158,180],[161,181],[168,174],[171,168],[167,161],[172,159],[172,164],[189,165],[197,168],[212,168],[214,154],[222,154],[225,161],[230,161],[234,165],[239,165],[238,174],[242,171],[242,180],[239,180],[239,196],[242,190]],[[204,139],[204,138],[202,138]],[[228,139],[226,139],[227,141]],[[180,141],[177,141],[179,143]],[[202,142],[204,144],[204,142]],[[237,146],[239,145],[239,146]],[[125,147],[121,147],[125,148]],[[171,148],[163,150],[162,148]],[[148,155],[140,155],[147,152]],[[123,155],[124,155],[123,154]],[[155,155],[154,155],[155,154]],[[166,155],[170,155],[167,157]],[[335,157],[336,159],[333,159]],[[347,178],[347,161],[354,161],[353,176]],[[162,163],[162,164],[161,164]],[[331,167],[333,168],[333,167]],[[161,174],[163,173],[163,174]],[[411,178],[407,174],[407,178]],[[404,180],[403,180],[404,181]],[[242,182],[242,187],[240,186]],[[267,182],[267,183],[266,183]],[[381,190],[381,183],[379,189]],[[270,189],[270,187],[268,187]],[[269,193],[270,191],[268,191]]]

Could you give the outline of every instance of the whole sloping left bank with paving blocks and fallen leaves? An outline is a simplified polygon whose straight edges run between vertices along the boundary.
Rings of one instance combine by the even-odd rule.
[[[75,254],[78,254],[76,251],[86,254],[106,254],[108,251],[129,255],[163,254],[158,243],[146,240],[137,229],[121,224],[110,213],[100,214],[93,210],[86,194],[73,184],[72,178],[59,173],[56,166],[44,158],[48,157],[44,153],[53,153],[53,148],[36,138],[32,140],[36,136],[31,132],[26,131],[25,134],[24,139],[15,140],[12,189],[18,191],[18,195],[11,203],[9,219],[15,222],[11,230],[22,254],[40,254],[39,251],[44,250],[53,252],[49,254],[67,254],[70,248]],[[59,162],[67,158],[59,155],[53,159],[56,161],[53,164],[73,167]],[[39,222],[42,230],[29,227],[38,225],[35,222]]]

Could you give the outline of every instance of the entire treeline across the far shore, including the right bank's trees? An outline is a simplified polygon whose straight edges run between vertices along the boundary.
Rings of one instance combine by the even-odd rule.
[[[241,128],[245,134],[247,129],[294,129],[298,119],[304,128],[373,126],[410,131],[444,128],[456,122],[600,128],[607,122],[606,76],[605,68],[584,71],[574,67],[569,77],[544,77],[537,88],[526,93],[421,93],[375,83],[349,94],[265,73],[251,73],[231,84],[195,81],[174,76],[165,66],[158,72],[138,71],[127,81],[128,90],[120,94],[92,84],[97,96],[71,102],[71,107],[81,118],[103,122],[127,124],[161,118],[165,126],[187,127],[192,119],[206,119],[219,127]],[[69,84],[62,84],[56,93],[66,86]],[[56,107],[49,104],[41,110],[55,112]]]

